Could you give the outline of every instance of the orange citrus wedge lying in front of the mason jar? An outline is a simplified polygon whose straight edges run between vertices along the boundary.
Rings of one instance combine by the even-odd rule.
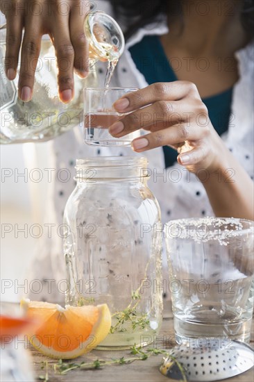
[[[51,358],[76,358],[94,349],[108,335],[111,315],[107,304],[98,306],[62,306],[23,299],[28,317],[40,322],[26,333],[42,354]]]

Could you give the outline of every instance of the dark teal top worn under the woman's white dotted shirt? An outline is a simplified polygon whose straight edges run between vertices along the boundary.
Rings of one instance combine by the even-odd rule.
[[[164,53],[158,35],[147,35],[142,41],[129,48],[130,54],[137,69],[144,75],[146,82],[151,85],[155,82],[177,81],[175,72]],[[202,99],[208,108],[212,125],[219,135],[228,130],[231,113],[232,88],[212,97]],[[176,162],[178,153],[169,146],[163,147],[165,166],[169,167]]]

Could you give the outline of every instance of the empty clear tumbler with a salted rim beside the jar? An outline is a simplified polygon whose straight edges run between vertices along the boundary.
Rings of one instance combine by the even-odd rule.
[[[164,228],[176,341],[250,340],[254,222],[207,217]]]

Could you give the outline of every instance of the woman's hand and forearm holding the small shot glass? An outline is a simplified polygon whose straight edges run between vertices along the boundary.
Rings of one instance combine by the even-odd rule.
[[[112,135],[150,131],[133,140],[135,151],[175,148],[178,163],[203,183],[215,215],[254,219],[253,181],[214,130],[196,85],[154,83],[119,99],[115,109],[130,114],[110,126]]]

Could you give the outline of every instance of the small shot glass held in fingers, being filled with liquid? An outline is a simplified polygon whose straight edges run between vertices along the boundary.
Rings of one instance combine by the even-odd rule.
[[[114,138],[108,127],[128,113],[117,113],[112,104],[124,94],[137,88],[86,88],[84,90],[85,143],[99,146],[130,146],[140,136],[134,131],[121,138]]]

